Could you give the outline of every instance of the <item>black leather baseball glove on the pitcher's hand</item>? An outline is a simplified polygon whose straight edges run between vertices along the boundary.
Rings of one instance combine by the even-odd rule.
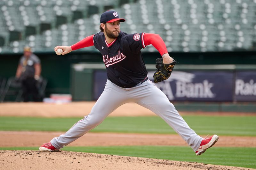
[[[157,58],[156,59],[156,72],[153,75],[154,82],[158,83],[160,81],[164,81],[168,79],[171,76],[171,73],[173,71],[173,67],[176,64],[176,61],[173,59],[173,62],[170,64],[164,64],[163,58]],[[171,70],[172,71],[169,71]]]

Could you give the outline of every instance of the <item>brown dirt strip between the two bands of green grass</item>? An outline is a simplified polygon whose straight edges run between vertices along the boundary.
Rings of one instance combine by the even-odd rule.
[[[0,131],[0,147],[33,147],[49,142],[65,132]],[[10,142],[11,141],[11,142]],[[68,146],[188,146],[176,134],[91,133],[88,132]],[[215,147],[256,147],[256,137],[220,136]],[[191,152],[193,152],[191,150]]]

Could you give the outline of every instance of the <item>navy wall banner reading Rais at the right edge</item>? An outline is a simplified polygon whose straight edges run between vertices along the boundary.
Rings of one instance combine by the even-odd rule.
[[[256,101],[256,71],[236,72],[235,101]]]

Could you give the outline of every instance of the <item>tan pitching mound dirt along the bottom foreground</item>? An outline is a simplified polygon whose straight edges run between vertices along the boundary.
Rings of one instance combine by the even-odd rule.
[[[249,170],[194,162],[82,152],[0,151],[0,169]]]

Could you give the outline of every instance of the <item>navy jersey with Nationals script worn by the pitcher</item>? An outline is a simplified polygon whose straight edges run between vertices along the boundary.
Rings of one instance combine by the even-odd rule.
[[[144,33],[119,36],[108,45],[103,32],[93,36],[93,43],[106,65],[108,79],[116,85],[134,87],[147,77],[147,70],[140,50],[145,48]]]

